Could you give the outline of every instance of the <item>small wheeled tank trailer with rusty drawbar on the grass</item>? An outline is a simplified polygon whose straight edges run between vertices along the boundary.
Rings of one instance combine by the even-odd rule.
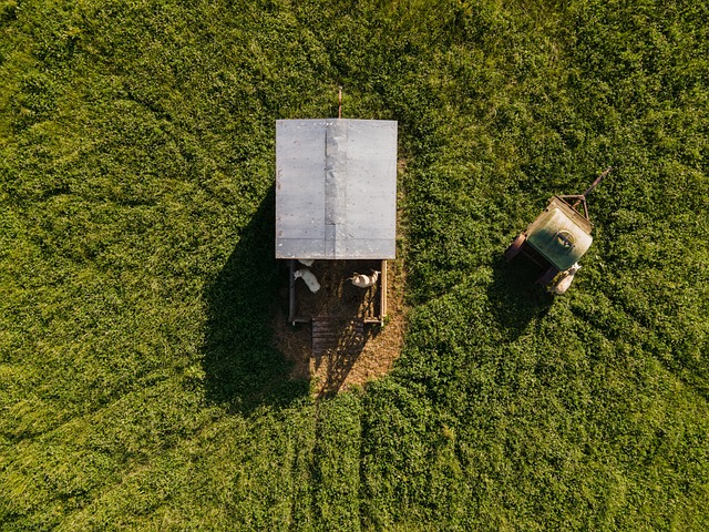
[[[536,283],[546,287],[553,286],[559,274],[571,270],[573,275],[593,242],[586,196],[610,170],[600,174],[583,194],[552,197],[544,212],[510,244],[505,258],[524,256],[536,264],[542,272]]]

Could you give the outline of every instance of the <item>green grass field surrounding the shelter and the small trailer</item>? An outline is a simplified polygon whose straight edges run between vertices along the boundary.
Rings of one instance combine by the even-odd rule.
[[[707,20],[0,0],[0,530],[709,530]],[[273,347],[275,121],[339,85],[399,121],[410,318],[316,401]],[[552,301],[502,253],[608,165]]]

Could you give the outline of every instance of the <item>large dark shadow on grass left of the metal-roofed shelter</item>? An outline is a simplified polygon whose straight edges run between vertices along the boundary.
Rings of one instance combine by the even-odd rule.
[[[290,378],[291,362],[275,346],[273,313],[287,275],[274,258],[274,232],[271,187],[206,291],[207,399],[243,413],[308,393],[308,382]]]

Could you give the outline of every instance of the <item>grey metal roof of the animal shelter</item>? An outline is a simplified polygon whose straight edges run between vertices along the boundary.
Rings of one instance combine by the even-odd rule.
[[[276,258],[395,258],[397,122],[276,122]]]

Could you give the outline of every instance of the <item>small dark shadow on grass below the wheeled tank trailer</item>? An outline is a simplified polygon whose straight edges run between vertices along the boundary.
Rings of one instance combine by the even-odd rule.
[[[554,296],[535,284],[541,272],[523,258],[507,263],[500,257],[493,264],[493,282],[487,289],[495,320],[508,339],[515,340],[534,318],[543,318]]]

